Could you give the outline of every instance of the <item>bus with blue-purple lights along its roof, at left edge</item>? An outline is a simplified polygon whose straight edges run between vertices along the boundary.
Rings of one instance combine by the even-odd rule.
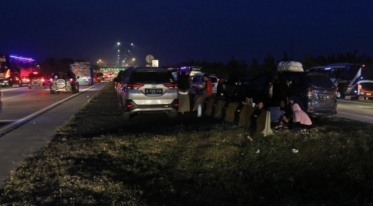
[[[35,59],[24,56],[0,54],[0,79],[8,79],[10,85],[21,83],[21,78],[39,72]]]

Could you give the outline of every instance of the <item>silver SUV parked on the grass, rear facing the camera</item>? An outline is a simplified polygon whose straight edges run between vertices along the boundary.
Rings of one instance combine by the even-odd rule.
[[[164,68],[129,68],[117,88],[124,119],[138,112],[166,112],[178,115],[178,84]]]

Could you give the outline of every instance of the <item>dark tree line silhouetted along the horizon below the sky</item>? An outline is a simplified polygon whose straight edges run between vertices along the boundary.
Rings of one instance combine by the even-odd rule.
[[[337,54],[330,54],[327,56],[322,56],[319,54],[318,56],[311,56],[309,54],[305,54],[303,57],[304,59],[299,61],[303,65],[304,70],[308,70],[314,66],[318,65],[328,65],[330,63],[357,63],[357,64],[365,64],[365,65],[373,65],[373,59],[371,56],[367,54],[361,54],[358,56],[358,51],[355,50],[354,52],[346,52],[337,53]],[[82,59],[77,59],[77,61],[84,61]],[[287,52],[284,52],[283,58],[280,60],[275,59],[274,56],[271,54],[267,54],[264,57],[263,63],[259,63],[258,59],[251,59],[251,65],[248,65],[244,60],[236,59],[234,56],[231,56],[231,59],[228,63],[223,63],[221,61],[214,61],[209,62],[206,59],[202,61],[199,60],[188,60],[184,62],[177,63],[175,65],[163,65],[164,68],[180,68],[182,66],[198,66],[202,67],[202,71],[215,74],[216,76],[224,76],[228,77],[229,74],[238,73],[247,76],[256,76],[262,72],[271,72],[277,70],[277,65],[280,61],[294,61],[294,59],[290,58]],[[52,72],[60,72],[60,71],[67,71],[70,67],[70,64],[75,63],[75,61],[71,58],[64,58],[64,59],[55,59],[50,58],[46,59],[46,61],[39,63],[41,70],[46,74],[51,74]],[[93,70],[98,70],[98,65],[93,65]]]

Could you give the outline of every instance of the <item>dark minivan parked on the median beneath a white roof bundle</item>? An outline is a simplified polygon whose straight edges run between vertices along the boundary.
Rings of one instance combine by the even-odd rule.
[[[279,78],[281,76],[282,78]],[[336,87],[328,76],[312,72],[278,71],[259,74],[251,79],[242,94],[262,101],[265,107],[273,105],[278,99],[279,79],[289,82],[289,94],[296,96],[305,106],[307,114],[321,117],[336,114]]]

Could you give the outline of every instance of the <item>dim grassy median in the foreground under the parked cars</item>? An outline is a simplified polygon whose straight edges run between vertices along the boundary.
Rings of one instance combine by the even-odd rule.
[[[0,204],[373,204],[371,124],[331,117],[307,135],[264,137],[196,114],[123,121],[115,98],[110,83],[61,126]]]

